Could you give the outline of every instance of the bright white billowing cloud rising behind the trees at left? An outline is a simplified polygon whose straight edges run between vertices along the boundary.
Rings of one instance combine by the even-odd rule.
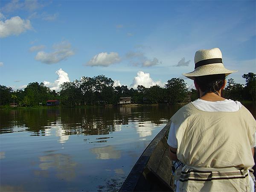
[[[50,83],[49,81],[44,81],[44,85],[49,87],[50,90],[59,91],[60,85],[64,82],[70,82],[70,79],[68,77],[68,74],[62,69],[57,70],[55,73],[58,75],[58,79],[56,79],[53,83]]]

